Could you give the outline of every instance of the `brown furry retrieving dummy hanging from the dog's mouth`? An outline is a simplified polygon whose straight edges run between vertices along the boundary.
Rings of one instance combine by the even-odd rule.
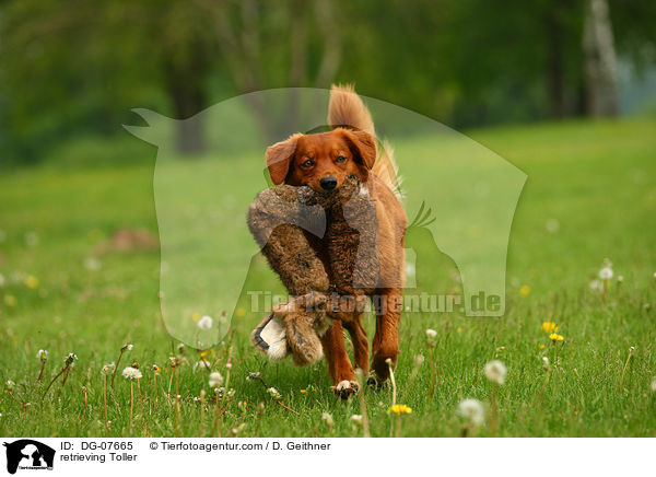
[[[248,226],[292,295],[253,331],[253,342],[274,360],[291,353],[297,365],[316,362],[330,318],[349,322],[377,284],[375,203],[356,177],[329,194],[282,185],[257,196]]]

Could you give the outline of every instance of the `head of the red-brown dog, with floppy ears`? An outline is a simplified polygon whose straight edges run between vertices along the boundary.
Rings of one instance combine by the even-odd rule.
[[[350,176],[366,182],[375,161],[374,138],[343,128],[295,133],[267,149],[267,167],[273,184],[309,186],[316,191],[333,190]]]

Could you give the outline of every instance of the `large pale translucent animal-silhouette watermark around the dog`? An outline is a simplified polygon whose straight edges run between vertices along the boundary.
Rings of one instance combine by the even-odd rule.
[[[267,147],[325,127],[329,94],[318,89],[254,92],[185,120],[134,110],[148,126],[126,129],[157,147],[153,191],[161,244],[160,303],[176,339],[211,347],[226,335],[231,319],[255,322],[270,306],[257,300],[266,300],[262,290],[268,283],[279,282],[266,266],[263,271],[256,269],[262,263],[260,248],[245,216],[270,185],[262,179]],[[425,116],[374,98],[364,101],[378,136],[394,144],[402,177],[402,206],[412,225],[406,256],[408,268],[417,272],[417,280],[407,280],[406,287],[435,294],[458,288],[458,312],[503,315],[511,225],[526,174]],[[180,135],[195,128],[204,130],[208,149],[180,159]],[[436,275],[457,280],[445,284]],[[203,315],[212,319],[199,321]]]

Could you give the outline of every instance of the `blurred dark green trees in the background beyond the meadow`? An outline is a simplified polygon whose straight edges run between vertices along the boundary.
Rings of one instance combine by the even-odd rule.
[[[1,163],[129,161],[133,107],[340,81],[458,130],[654,115],[655,20],[649,0],[2,0]],[[249,107],[271,140],[297,113]],[[211,128],[178,124],[204,152]]]

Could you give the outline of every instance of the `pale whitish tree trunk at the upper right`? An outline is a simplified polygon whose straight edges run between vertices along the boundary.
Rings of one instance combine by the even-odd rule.
[[[586,113],[619,114],[618,67],[607,0],[587,0],[583,28]]]

